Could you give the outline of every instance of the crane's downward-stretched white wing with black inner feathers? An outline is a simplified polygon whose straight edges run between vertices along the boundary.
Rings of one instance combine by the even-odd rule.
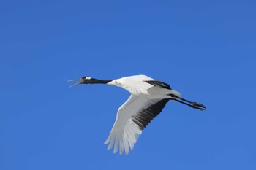
[[[133,150],[138,137],[146,128],[146,125],[156,117],[165,107],[169,99],[147,99],[131,95],[129,99],[118,109],[116,122],[106,140],[108,150],[114,146],[114,153],[119,149],[120,155],[129,148]]]

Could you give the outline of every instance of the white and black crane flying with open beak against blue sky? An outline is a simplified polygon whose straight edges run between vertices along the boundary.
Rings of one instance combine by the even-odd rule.
[[[79,81],[74,85],[99,83],[116,85],[131,93],[128,100],[119,107],[116,121],[105,141],[105,144],[108,144],[108,150],[114,147],[113,152],[116,153],[119,150],[120,155],[123,152],[128,155],[129,149],[133,150],[143,129],[162,111],[168,101],[178,101],[194,109],[206,109],[203,104],[181,98],[181,93],[170,88],[167,83],[146,75],[122,77],[116,80],[98,80],[85,76],[69,80],[71,81]]]

